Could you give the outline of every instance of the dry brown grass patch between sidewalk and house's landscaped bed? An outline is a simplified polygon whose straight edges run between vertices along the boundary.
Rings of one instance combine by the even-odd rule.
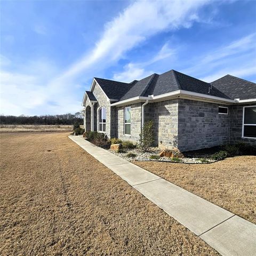
[[[211,164],[134,164],[256,224],[256,156]]]

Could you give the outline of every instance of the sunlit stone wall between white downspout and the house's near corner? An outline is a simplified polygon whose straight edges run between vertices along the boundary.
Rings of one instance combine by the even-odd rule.
[[[178,99],[149,103],[145,106],[145,121],[155,121],[155,145],[178,146]]]

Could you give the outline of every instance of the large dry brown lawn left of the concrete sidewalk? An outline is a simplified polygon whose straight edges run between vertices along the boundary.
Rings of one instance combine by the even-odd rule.
[[[1,134],[0,255],[218,255],[67,136]]]

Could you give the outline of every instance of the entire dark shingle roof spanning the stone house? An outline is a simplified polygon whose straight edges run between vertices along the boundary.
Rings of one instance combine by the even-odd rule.
[[[211,83],[212,86],[210,83],[173,69],[161,75],[153,74],[139,81],[134,80],[131,83],[122,83],[102,78],[95,79],[109,99],[119,101],[138,96],[156,96],[177,90],[202,93],[224,99],[256,98],[256,84],[230,75],[214,81]]]

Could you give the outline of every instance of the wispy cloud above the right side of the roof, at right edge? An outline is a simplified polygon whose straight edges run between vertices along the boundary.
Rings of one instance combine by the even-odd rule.
[[[256,74],[256,34],[250,34],[194,58],[182,72],[212,82],[227,74],[249,76]],[[254,55],[254,57],[253,57]],[[195,64],[196,63],[196,64]]]

